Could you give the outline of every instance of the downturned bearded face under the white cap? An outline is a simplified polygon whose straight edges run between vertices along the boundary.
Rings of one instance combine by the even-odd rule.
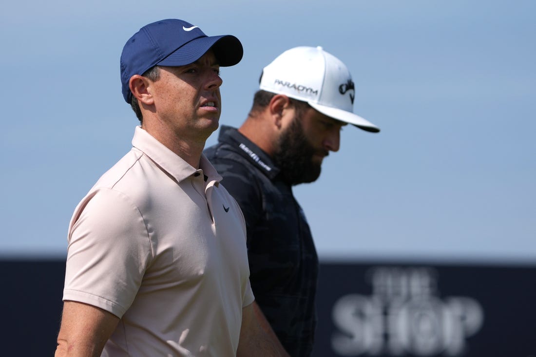
[[[293,185],[315,181],[324,158],[330,151],[339,150],[344,125],[312,108],[294,117],[282,132],[273,155],[284,180]]]

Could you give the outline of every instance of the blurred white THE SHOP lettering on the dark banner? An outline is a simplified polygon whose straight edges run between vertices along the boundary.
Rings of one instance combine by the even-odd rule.
[[[376,267],[368,276],[372,295],[344,295],[333,306],[331,344],[341,356],[459,356],[482,326],[478,301],[437,296],[435,270]]]

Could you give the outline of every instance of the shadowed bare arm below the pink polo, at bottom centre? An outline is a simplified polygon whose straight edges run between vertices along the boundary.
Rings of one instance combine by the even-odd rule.
[[[242,309],[237,357],[289,357],[255,302]]]

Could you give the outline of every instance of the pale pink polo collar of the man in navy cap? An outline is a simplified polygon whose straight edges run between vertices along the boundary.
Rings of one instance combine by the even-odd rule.
[[[207,181],[216,181],[216,185],[222,180],[222,177],[204,154],[201,154],[198,170],[173,151],[169,150],[169,148],[160,143],[139,125],[134,131],[132,146],[142,151],[169,175],[173,176],[177,182],[181,182],[198,172],[206,175],[208,177]]]

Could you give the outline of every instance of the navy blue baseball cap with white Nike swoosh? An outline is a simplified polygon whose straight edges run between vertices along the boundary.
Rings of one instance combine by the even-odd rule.
[[[121,53],[123,98],[132,99],[129,81],[155,65],[183,66],[197,61],[211,49],[222,67],[240,62],[242,43],[233,35],[207,36],[197,26],[178,19],[166,19],[139,29]]]

